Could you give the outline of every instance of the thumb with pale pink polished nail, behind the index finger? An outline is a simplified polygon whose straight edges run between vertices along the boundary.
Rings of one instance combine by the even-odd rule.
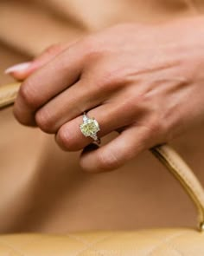
[[[55,56],[59,55],[64,49],[67,49],[67,43],[54,44],[45,49],[40,56],[37,56],[32,62],[23,62],[16,64],[4,72],[13,76],[18,81],[25,80],[29,75],[40,69],[43,65],[51,61]]]

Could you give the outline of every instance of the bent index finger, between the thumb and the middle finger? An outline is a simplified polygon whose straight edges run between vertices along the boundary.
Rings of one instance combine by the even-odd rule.
[[[34,125],[35,110],[76,82],[82,63],[82,50],[74,45],[30,75],[16,98],[16,119],[24,125]]]

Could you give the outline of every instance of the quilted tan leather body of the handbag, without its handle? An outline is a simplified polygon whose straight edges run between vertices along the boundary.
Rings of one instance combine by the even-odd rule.
[[[14,234],[0,237],[0,256],[203,256],[204,233],[188,229]]]

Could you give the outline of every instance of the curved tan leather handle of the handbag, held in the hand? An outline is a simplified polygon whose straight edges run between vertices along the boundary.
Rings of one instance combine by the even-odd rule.
[[[0,109],[14,103],[20,85],[20,83],[13,83],[0,87]],[[199,215],[199,229],[204,231],[204,190],[193,171],[168,144],[156,146],[150,151],[175,176],[194,202]]]

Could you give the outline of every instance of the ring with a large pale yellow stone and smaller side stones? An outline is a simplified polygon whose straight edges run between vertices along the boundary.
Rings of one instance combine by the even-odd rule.
[[[95,120],[95,118],[89,118],[86,113],[83,115],[83,123],[80,124],[80,131],[86,137],[91,137],[98,144],[100,143],[100,139],[97,136],[99,132],[99,122]]]

